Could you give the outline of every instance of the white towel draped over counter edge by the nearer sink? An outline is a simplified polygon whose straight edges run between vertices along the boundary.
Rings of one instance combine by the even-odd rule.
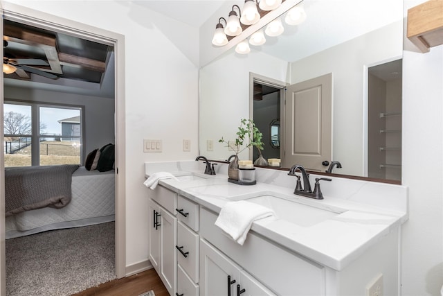
[[[255,220],[274,215],[273,210],[253,202],[246,202],[245,200],[226,202],[224,207],[221,208],[217,220],[215,220],[215,225],[223,229],[239,245],[243,245],[246,235]]]

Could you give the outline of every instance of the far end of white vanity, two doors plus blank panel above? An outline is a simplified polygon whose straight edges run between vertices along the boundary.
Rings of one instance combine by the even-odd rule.
[[[177,218],[170,209],[177,204],[177,193],[157,186],[149,201],[149,259],[170,295],[177,286]],[[157,203],[159,202],[159,203]],[[165,207],[164,207],[165,206]]]

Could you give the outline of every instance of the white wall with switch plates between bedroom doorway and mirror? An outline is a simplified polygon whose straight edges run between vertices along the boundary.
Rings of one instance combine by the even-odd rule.
[[[144,162],[192,159],[198,153],[199,31],[129,1],[10,1],[125,35],[126,265],[147,259]],[[188,57],[190,46],[195,56]],[[162,139],[162,153],[143,153]],[[190,152],[183,152],[190,139]]]

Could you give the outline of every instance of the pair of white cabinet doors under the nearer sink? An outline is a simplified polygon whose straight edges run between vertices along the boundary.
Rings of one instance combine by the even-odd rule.
[[[200,295],[275,295],[213,245],[200,240]]]

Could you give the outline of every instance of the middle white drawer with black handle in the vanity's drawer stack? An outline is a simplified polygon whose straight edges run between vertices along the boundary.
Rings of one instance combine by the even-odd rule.
[[[195,283],[199,282],[199,235],[177,223],[177,262]],[[183,253],[182,253],[183,252]]]

